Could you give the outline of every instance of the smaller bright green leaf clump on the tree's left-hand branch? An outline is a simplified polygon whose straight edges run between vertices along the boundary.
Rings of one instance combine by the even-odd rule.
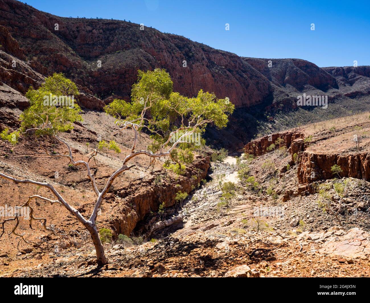
[[[39,128],[37,135],[55,135],[57,132],[64,132],[73,129],[75,121],[82,121],[79,114],[81,108],[75,103],[73,107],[59,105],[44,105],[44,97],[52,96],[76,96],[77,86],[63,74],[54,73],[47,77],[40,88],[33,87],[26,92],[30,100],[30,106],[20,115],[21,129],[26,131],[29,128]]]

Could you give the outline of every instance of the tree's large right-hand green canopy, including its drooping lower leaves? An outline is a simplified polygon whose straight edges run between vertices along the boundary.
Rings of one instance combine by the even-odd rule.
[[[104,110],[118,119],[118,125],[131,121],[139,124],[138,130],[147,128],[152,133],[152,142],[148,146],[152,153],[160,149],[162,151],[166,146],[169,148],[181,138],[170,154],[176,164],[166,162],[164,167],[183,174],[185,164],[194,160],[192,152],[198,147],[198,143],[205,142],[200,137],[197,137],[200,142],[191,142],[192,140],[188,139],[192,137],[189,136],[201,135],[207,123],[211,121],[216,127],[225,127],[228,114],[232,113],[235,107],[228,98],[217,99],[215,94],[209,92],[200,90],[196,97],[188,98],[173,92],[172,88],[171,77],[165,70],[139,70],[138,81],[132,85],[131,102],[115,99],[106,105]],[[145,117],[142,118],[141,115]],[[179,117],[181,125],[176,122]],[[185,134],[188,135],[184,137]]]

